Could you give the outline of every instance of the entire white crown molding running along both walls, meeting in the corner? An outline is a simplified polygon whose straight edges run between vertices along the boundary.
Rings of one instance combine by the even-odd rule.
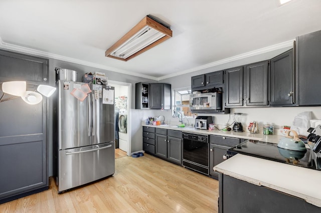
[[[68,62],[71,62],[71,63],[78,63],[78,64],[85,65],[85,66],[91,66],[91,67],[95,67],[95,68],[105,69],[105,70],[109,70],[109,71],[119,72],[119,73],[123,73],[123,74],[128,74],[128,75],[132,75],[132,76],[137,76],[137,77],[142,77],[142,78],[147,78],[147,79],[158,81],[158,80],[163,80],[163,79],[170,78],[170,77],[175,77],[175,76],[178,76],[178,75],[181,75],[181,74],[187,74],[187,73],[190,73],[190,72],[193,72],[193,71],[198,71],[198,70],[201,70],[201,69],[205,69],[205,68],[221,65],[221,64],[224,64],[224,63],[228,63],[228,62],[244,59],[244,58],[251,57],[251,56],[254,56],[254,55],[258,55],[258,54],[274,51],[274,50],[277,50],[277,49],[281,49],[281,48],[285,48],[285,47],[291,47],[291,46],[293,46],[293,40],[295,40],[295,39],[284,41],[284,42],[281,42],[281,43],[278,43],[278,44],[274,44],[274,45],[267,46],[267,47],[264,47],[264,48],[256,49],[256,50],[253,50],[253,51],[245,52],[245,53],[242,53],[242,54],[239,54],[239,55],[235,55],[235,56],[232,56],[232,57],[224,58],[222,60],[214,61],[214,62],[211,62],[211,63],[207,63],[207,64],[204,64],[204,65],[201,65],[201,66],[197,66],[197,67],[194,67],[194,68],[191,68],[191,69],[186,69],[186,70],[183,70],[183,71],[180,71],[180,72],[175,72],[175,73],[172,73],[172,74],[164,75],[164,76],[161,76],[161,77],[154,77],[154,76],[150,76],[150,75],[140,74],[140,73],[137,73],[137,72],[130,72],[130,71],[124,70],[124,69],[118,69],[118,68],[111,67],[111,66],[101,65],[101,64],[98,64],[98,63],[92,63],[92,62],[85,61],[85,60],[80,60],[80,59],[67,57],[67,56],[63,56],[63,55],[59,55],[59,54],[54,54],[54,53],[45,52],[45,51],[41,51],[41,50],[37,50],[37,49],[32,49],[32,48],[28,48],[28,47],[24,47],[24,46],[10,44],[10,43],[4,42],[1,37],[0,37],[0,48],[4,48],[4,49],[8,49],[8,50],[14,50],[14,51],[20,51],[20,52],[34,54],[34,55],[43,56],[43,57],[49,57],[49,58],[53,58],[53,59],[57,59],[57,60],[64,60],[64,61],[68,61]]]

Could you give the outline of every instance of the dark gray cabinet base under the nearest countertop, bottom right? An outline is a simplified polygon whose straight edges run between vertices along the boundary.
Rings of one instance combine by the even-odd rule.
[[[230,212],[316,213],[321,208],[301,198],[220,173],[219,213]]]

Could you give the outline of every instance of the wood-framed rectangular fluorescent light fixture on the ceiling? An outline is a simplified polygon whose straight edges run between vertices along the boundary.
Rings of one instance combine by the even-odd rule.
[[[145,16],[105,51],[105,56],[127,61],[172,37],[172,30]]]

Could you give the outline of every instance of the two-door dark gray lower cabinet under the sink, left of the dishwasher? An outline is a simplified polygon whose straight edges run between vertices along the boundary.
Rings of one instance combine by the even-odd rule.
[[[182,164],[182,131],[156,128],[155,155]]]

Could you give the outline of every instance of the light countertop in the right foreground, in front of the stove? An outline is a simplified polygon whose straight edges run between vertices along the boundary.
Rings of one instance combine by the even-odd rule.
[[[236,154],[214,170],[256,185],[266,186],[321,207],[321,171]]]

